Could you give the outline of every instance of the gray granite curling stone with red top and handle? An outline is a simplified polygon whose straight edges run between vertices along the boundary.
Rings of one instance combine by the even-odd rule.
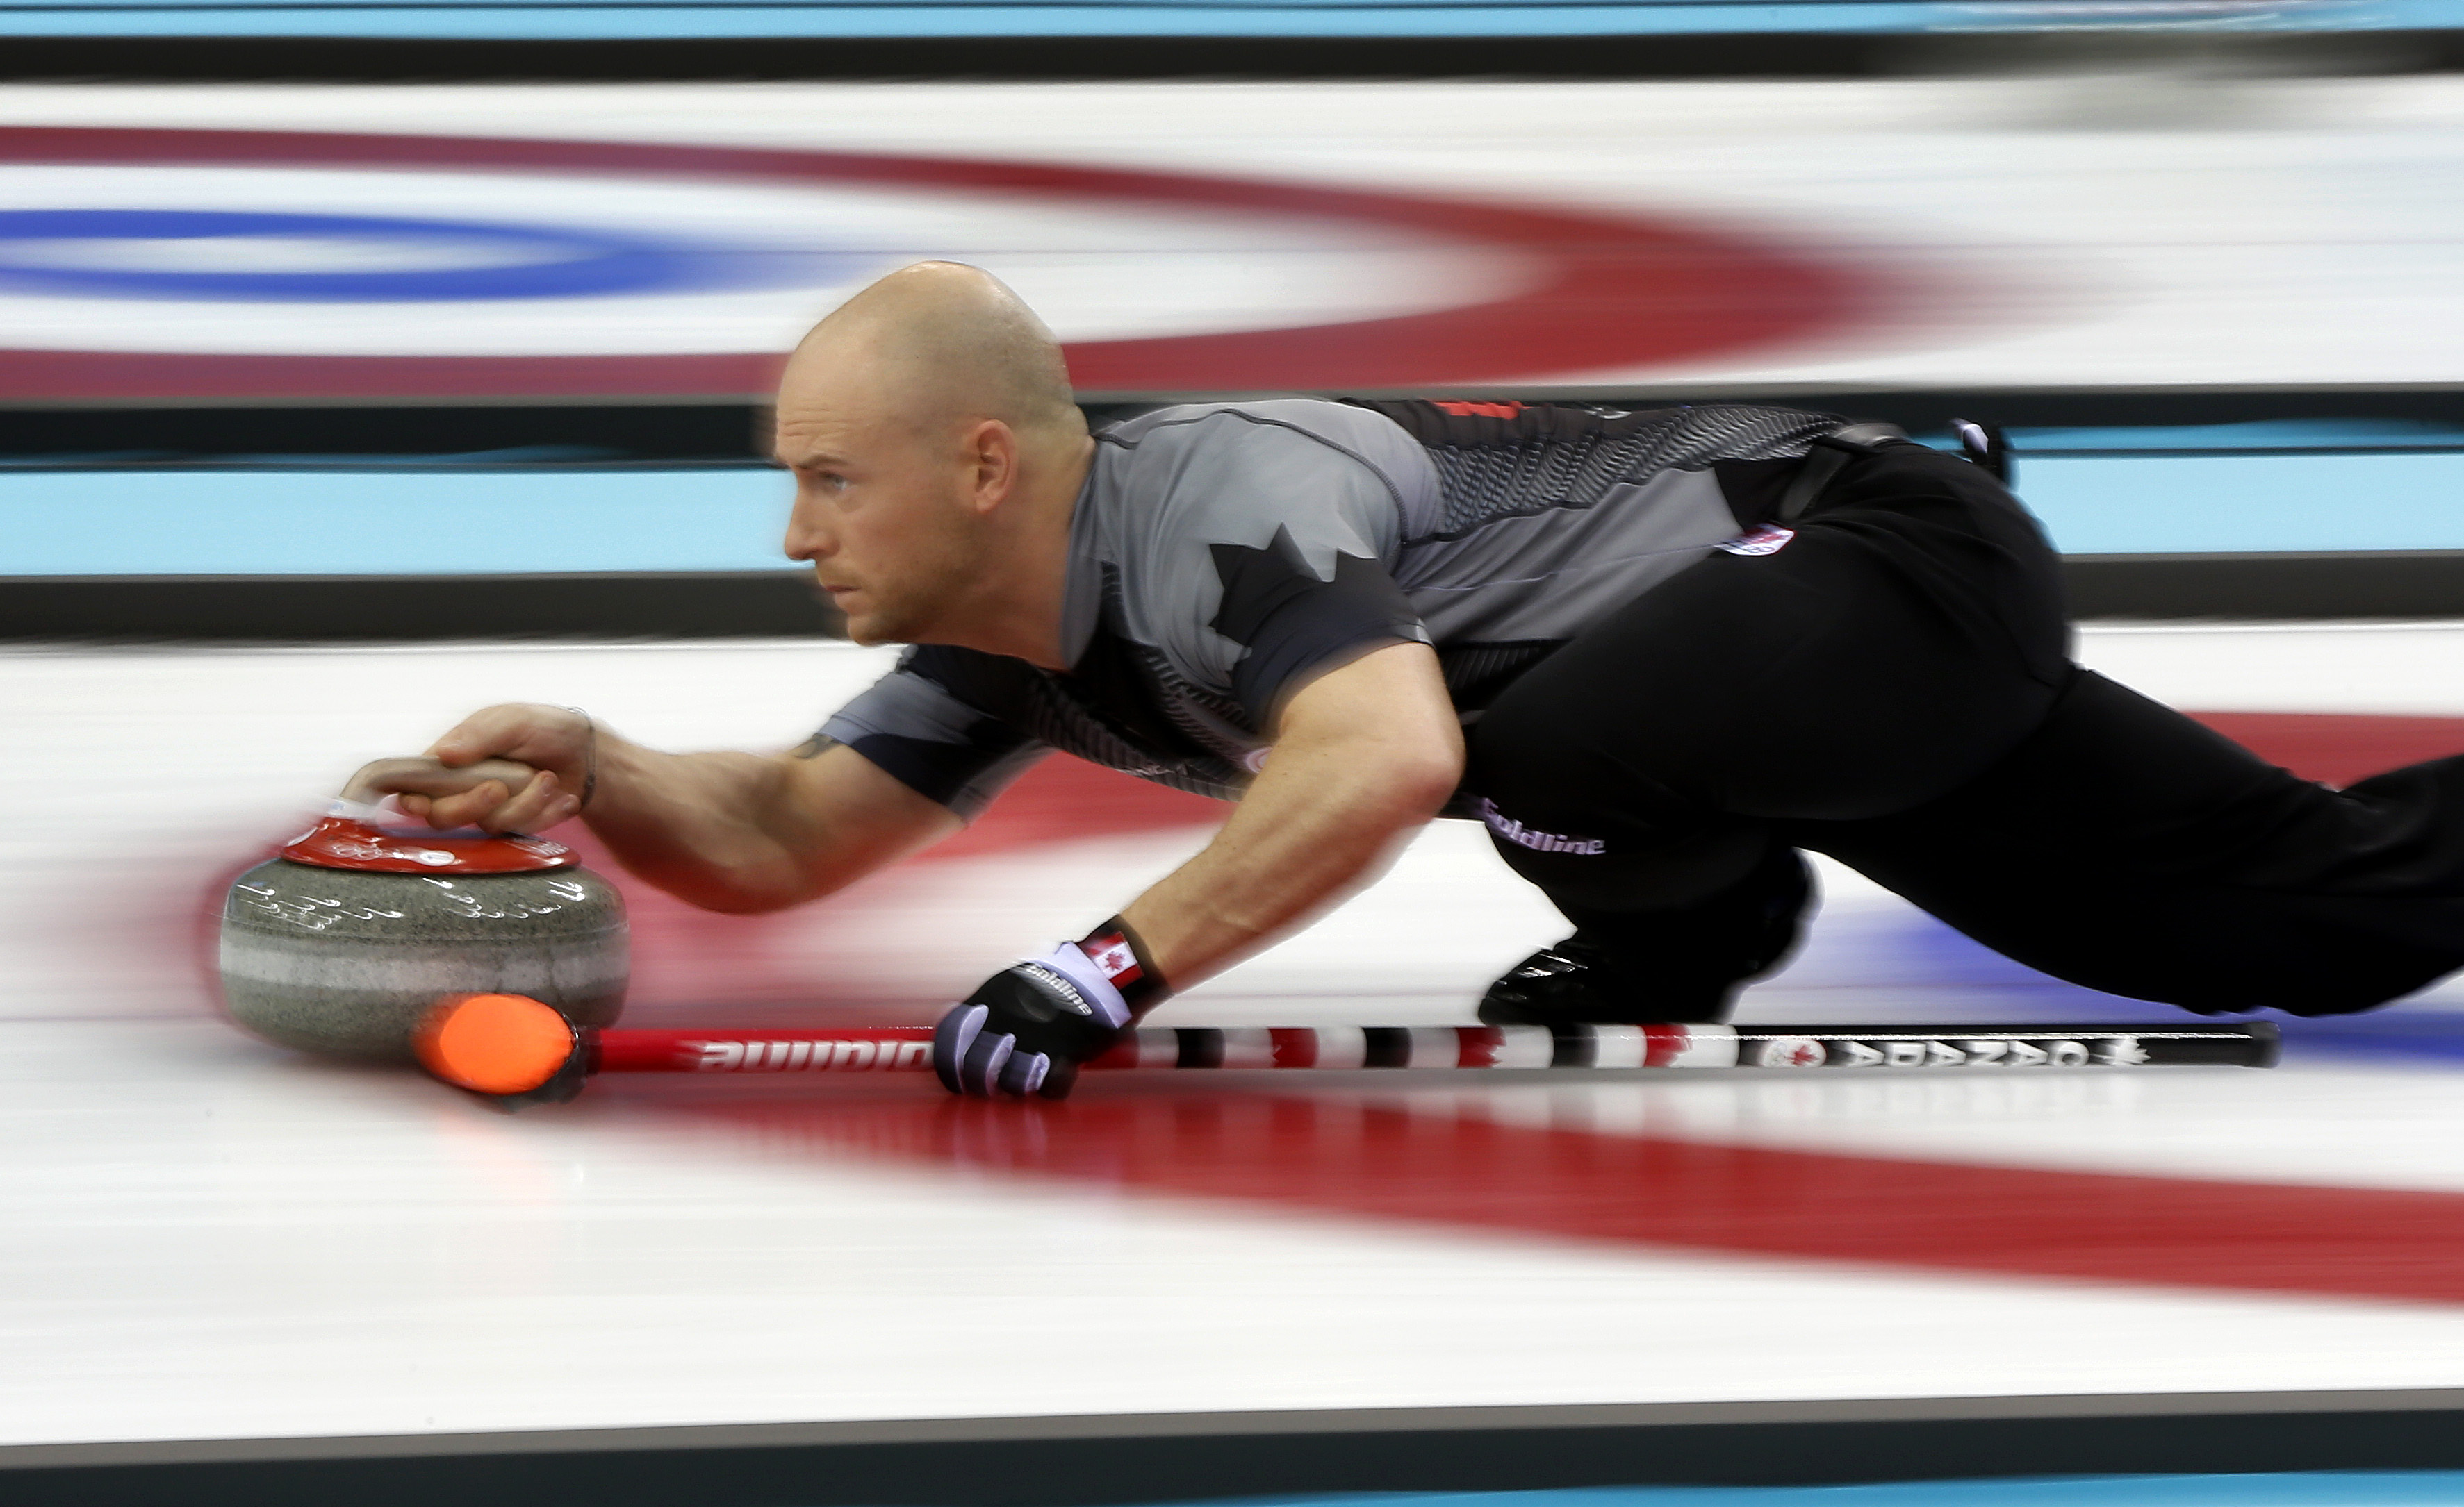
[[[301,1051],[414,1061],[411,1032],[448,995],[527,995],[574,1024],[616,1022],[623,896],[545,837],[382,827],[377,800],[532,771],[384,758],[325,818],[232,884],[222,997],[241,1027]]]

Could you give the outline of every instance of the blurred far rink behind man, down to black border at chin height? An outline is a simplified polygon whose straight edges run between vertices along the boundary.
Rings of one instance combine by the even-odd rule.
[[[821,633],[756,404],[818,310],[919,256],[1010,278],[1096,406],[1964,416],[2011,428],[2087,616],[2454,613],[2449,27],[10,5],[0,633]]]

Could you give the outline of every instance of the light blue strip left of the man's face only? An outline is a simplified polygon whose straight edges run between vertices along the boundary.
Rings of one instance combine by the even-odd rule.
[[[788,497],[769,468],[0,473],[0,576],[766,571]]]

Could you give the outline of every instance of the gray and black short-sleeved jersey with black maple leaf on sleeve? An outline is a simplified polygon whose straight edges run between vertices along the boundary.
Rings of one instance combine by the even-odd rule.
[[[1313,672],[1427,643],[1476,717],[1589,623],[1737,544],[1843,424],[1318,399],[1124,419],[1096,431],[1069,520],[1069,672],[919,645],[821,736],[961,818],[1055,749],[1232,800]]]

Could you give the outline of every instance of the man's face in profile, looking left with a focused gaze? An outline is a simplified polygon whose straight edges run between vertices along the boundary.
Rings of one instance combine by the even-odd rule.
[[[983,566],[958,436],[897,414],[865,362],[801,352],[779,384],[776,458],[796,473],[788,559],[848,616],[855,643],[931,643],[946,603]]]

